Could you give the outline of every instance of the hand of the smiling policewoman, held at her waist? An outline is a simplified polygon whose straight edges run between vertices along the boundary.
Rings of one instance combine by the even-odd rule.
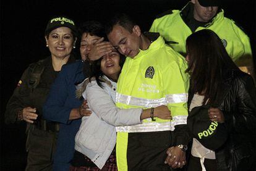
[[[28,123],[34,123],[34,120],[38,117],[38,114],[36,114],[36,108],[25,107],[20,112],[20,120],[25,120],[25,122]]]

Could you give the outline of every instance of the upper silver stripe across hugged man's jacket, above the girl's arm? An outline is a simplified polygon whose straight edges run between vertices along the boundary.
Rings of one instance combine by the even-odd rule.
[[[168,94],[166,95],[166,98],[160,99],[135,98],[132,96],[126,96],[124,94],[116,93],[116,102],[132,106],[142,106],[150,108],[167,105],[168,103],[187,102],[187,93]]]

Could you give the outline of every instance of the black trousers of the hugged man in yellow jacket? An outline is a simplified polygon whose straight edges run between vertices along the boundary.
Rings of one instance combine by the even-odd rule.
[[[164,164],[166,151],[174,145],[173,132],[129,133],[127,146],[128,170],[170,170]]]

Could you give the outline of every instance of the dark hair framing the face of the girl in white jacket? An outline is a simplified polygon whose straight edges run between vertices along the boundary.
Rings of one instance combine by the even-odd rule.
[[[122,55],[121,53],[117,52],[120,56],[119,59],[119,65],[122,68],[122,65],[124,65],[124,62],[126,61],[126,56]],[[102,80],[100,80],[100,77],[103,77],[104,73],[101,71],[101,60],[102,58],[95,60],[90,65],[90,77],[89,80],[91,81],[93,77],[96,79],[96,83],[98,86],[103,88],[102,86]]]

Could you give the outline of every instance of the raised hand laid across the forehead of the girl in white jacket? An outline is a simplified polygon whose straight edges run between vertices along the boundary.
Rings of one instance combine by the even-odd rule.
[[[95,42],[94,46],[92,46],[92,49],[88,54],[88,58],[90,60],[98,60],[101,57],[105,56],[106,54],[109,54],[111,51],[114,50],[114,47],[112,46],[111,43],[103,40],[104,38],[100,38]]]

